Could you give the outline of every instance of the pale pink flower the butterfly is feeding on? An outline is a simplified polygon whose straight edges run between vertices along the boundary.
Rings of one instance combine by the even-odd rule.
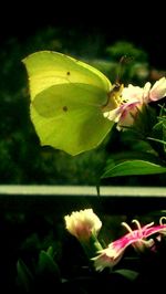
[[[117,123],[117,129],[133,125],[138,112],[144,104],[159,101],[166,96],[166,77],[157,81],[153,87],[147,82],[144,87],[133,86],[129,84],[124,87],[121,97],[118,97],[118,106],[115,109],[105,112],[104,116],[110,120]],[[107,109],[105,107],[105,109]]]

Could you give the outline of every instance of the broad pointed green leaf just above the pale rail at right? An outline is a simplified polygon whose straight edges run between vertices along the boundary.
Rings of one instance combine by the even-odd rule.
[[[134,176],[134,175],[155,175],[166,172],[166,167],[145,160],[126,160],[115,165],[113,161],[106,167],[102,178]]]

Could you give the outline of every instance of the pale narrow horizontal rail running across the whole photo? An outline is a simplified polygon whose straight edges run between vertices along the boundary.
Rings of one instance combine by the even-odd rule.
[[[165,197],[166,187],[116,187],[105,186],[100,188],[101,197]],[[1,185],[0,197],[9,195],[22,196],[97,196],[95,186],[29,186],[29,185]]]

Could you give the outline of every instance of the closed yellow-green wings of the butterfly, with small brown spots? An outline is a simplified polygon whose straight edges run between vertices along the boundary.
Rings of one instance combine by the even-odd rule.
[[[31,119],[41,145],[71,155],[96,147],[113,125],[102,113],[110,81],[94,67],[56,52],[31,54],[24,64]]]

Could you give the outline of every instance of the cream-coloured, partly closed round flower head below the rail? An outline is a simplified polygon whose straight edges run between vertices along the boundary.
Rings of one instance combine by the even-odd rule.
[[[86,241],[92,235],[96,237],[102,222],[92,209],[73,211],[71,216],[65,216],[66,230],[80,241]]]

